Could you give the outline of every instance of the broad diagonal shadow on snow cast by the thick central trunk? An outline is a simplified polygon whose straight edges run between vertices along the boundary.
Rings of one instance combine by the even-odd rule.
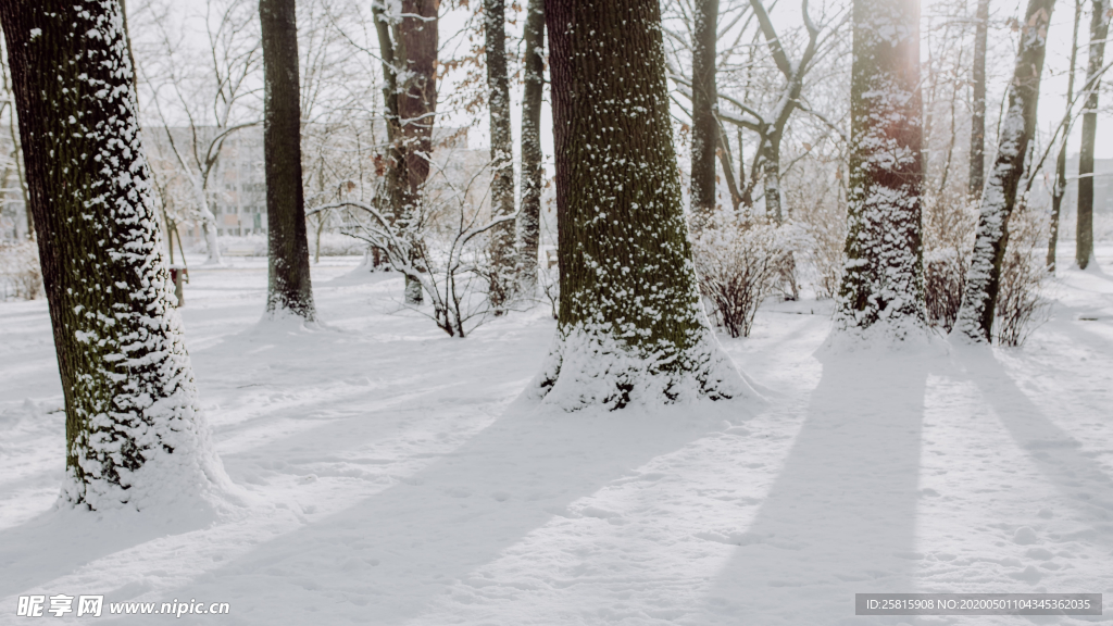
[[[519,401],[394,487],[160,595],[229,601],[253,624],[398,624],[453,584],[482,585],[476,568],[554,516],[578,515],[573,500],[746,412],[565,414]]]

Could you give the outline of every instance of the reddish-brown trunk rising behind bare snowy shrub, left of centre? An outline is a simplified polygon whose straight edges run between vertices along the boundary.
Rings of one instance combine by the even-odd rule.
[[[420,229],[422,187],[429,178],[436,113],[437,17],[441,0],[402,0],[402,16],[394,40],[395,63],[401,66],[398,118],[406,184],[403,186],[402,226],[412,238],[413,263],[423,257]],[[405,301],[420,304],[421,283],[406,277]]]

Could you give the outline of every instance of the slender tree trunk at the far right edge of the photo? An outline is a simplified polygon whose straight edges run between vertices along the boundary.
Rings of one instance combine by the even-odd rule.
[[[1095,76],[1105,59],[1110,31],[1110,0],[1093,0],[1090,18],[1090,62],[1086,67],[1086,104],[1082,114],[1082,149],[1078,150],[1078,213],[1074,260],[1085,270],[1094,256],[1094,138],[1097,133],[1099,81]],[[1093,81],[1093,85],[1091,85]]]

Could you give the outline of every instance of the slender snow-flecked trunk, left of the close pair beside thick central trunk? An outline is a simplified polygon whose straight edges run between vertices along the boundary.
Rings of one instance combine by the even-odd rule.
[[[483,18],[487,104],[491,109],[491,217],[499,218],[514,214],[514,137],[510,128],[505,0],[483,0]],[[487,254],[492,262],[487,299],[498,315],[505,312],[514,286],[516,258],[513,222],[506,222],[491,231]]]

